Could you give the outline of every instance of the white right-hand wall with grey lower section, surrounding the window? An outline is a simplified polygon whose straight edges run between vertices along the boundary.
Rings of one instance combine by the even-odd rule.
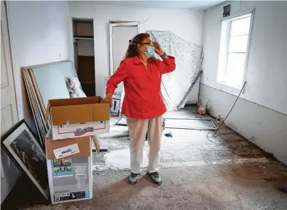
[[[225,116],[239,90],[216,82],[221,4],[204,13],[204,61],[200,100],[211,99],[212,115]],[[231,1],[231,15],[256,9],[254,14],[246,88],[226,125],[236,129],[266,152],[287,164],[287,2]]]

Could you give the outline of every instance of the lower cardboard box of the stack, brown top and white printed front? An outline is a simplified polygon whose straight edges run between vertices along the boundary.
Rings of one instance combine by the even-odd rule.
[[[78,145],[79,152],[55,158],[53,151],[72,145]],[[66,154],[67,150],[62,151]],[[91,154],[90,137],[53,141],[51,134],[46,135],[48,182],[52,204],[93,198]]]

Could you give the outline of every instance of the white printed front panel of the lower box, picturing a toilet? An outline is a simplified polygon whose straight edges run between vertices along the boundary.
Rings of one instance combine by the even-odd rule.
[[[47,168],[52,204],[93,198],[90,156],[48,159]]]

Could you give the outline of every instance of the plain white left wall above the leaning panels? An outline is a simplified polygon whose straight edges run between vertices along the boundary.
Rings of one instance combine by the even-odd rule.
[[[7,1],[19,120],[29,124],[21,67],[68,60],[68,2]]]

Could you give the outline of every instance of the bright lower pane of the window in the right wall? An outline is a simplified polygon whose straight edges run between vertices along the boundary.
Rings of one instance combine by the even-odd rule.
[[[229,53],[226,66],[226,83],[241,86],[244,74],[245,53]]]

